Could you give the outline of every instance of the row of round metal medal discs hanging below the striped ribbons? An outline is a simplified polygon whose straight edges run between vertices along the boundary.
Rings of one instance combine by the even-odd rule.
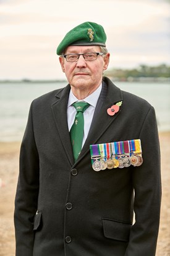
[[[117,158],[109,158],[107,160],[104,160],[100,157],[91,157],[91,159],[95,160],[92,164],[92,168],[95,171],[101,171],[113,168],[124,168],[124,167],[130,167],[130,165],[134,165],[134,167],[139,167],[143,163],[143,158],[140,155],[125,155],[120,156]]]

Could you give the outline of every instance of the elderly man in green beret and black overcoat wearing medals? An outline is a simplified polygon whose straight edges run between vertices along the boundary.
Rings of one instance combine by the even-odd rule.
[[[30,107],[15,197],[16,256],[155,255],[155,111],[103,77],[105,43],[94,22],[70,30],[57,47],[69,84]]]

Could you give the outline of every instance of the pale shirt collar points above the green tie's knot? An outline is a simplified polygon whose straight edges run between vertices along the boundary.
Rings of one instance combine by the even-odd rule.
[[[93,93],[91,93],[90,95],[87,96],[87,98],[85,99],[81,99],[81,101],[85,101],[88,104],[90,104],[93,107],[96,107],[98,98],[100,96],[101,93],[101,85],[95,90],[93,91]],[[67,107],[71,106],[73,103],[75,103],[76,101],[80,101],[79,99],[77,99],[74,94],[72,93],[72,89],[70,89],[70,94],[69,94],[69,101],[67,104]]]

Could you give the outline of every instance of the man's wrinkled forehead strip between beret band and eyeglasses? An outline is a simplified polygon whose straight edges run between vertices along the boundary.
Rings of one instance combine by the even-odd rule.
[[[64,54],[69,53],[87,53],[87,52],[100,52],[100,47],[98,45],[85,45],[85,46],[77,46],[70,45],[64,51]]]

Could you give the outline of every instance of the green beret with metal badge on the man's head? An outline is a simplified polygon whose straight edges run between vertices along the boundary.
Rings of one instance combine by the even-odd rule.
[[[57,47],[57,55],[61,55],[69,45],[100,45],[104,46],[106,34],[101,25],[84,22],[70,30]]]

